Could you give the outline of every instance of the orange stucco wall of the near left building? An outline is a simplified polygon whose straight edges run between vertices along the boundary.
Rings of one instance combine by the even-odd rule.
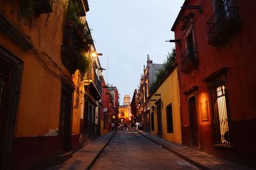
[[[32,50],[24,51],[4,32],[0,32],[0,45],[24,61],[17,137],[43,136],[59,127],[61,78],[72,80],[72,75],[61,63],[67,1],[54,3],[49,18],[41,14],[29,22],[20,18],[18,12],[11,12],[17,8],[12,3],[0,0],[0,4],[4,4],[0,7],[4,15],[27,34],[33,44]],[[72,132],[79,134],[80,110],[73,112]]]

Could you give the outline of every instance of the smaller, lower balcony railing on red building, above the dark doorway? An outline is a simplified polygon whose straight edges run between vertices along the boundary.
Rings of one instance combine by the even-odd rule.
[[[187,74],[196,67],[197,63],[196,44],[192,44],[181,55],[181,71]]]

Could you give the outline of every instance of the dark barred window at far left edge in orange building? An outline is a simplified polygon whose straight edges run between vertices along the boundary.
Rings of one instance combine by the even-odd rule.
[[[12,169],[24,62],[0,46],[0,168]]]

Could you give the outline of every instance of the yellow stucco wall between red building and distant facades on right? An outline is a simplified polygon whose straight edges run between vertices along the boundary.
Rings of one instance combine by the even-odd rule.
[[[180,103],[179,103],[179,81],[177,69],[166,78],[163,84],[156,90],[154,94],[161,94],[161,96],[152,96],[150,99],[161,99],[162,101],[162,127],[163,138],[175,143],[181,143],[181,127],[180,127]],[[157,135],[157,113],[155,101],[150,102],[150,114],[152,113],[152,106],[155,106],[154,110],[154,131],[151,134]],[[166,122],[166,106],[172,104],[173,113],[173,133],[167,133]],[[151,121],[151,120],[150,120]],[[151,125],[151,124],[150,124]]]

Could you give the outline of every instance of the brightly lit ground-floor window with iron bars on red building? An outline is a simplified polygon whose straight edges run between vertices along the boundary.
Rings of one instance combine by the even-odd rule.
[[[212,143],[216,146],[231,146],[230,117],[225,84],[225,74],[209,82],[212,110]]]

